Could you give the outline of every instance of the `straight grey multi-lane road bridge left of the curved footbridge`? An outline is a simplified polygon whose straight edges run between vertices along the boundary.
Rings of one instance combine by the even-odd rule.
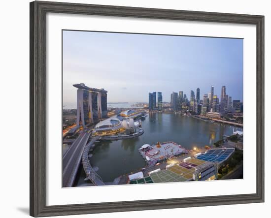
[[[62,184],[63,187],[72,187],[75,176],[77,174],[84,147],[89,139],[89,132],[82,132],[72,143],[66,154],[63,156],[62,162]]]

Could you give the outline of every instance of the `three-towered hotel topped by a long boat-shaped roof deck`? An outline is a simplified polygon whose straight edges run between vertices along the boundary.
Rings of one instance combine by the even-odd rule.
[[[76,125],[87,126],[107,118],[107,91],[74,84],[77,88]]]

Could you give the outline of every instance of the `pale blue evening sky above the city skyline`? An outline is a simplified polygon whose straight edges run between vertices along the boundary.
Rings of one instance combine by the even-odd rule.
[[[243,40],[233,38],[63,31],[63,102],[76,102],[73,84],[108,91],[107,102],[148,102],[149,92],[200,88],[243,98]]]

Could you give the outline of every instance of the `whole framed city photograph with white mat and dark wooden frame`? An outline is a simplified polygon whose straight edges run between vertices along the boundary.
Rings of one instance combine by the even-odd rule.
[[[30,3],[30,215],[264,202],[264,16]]]

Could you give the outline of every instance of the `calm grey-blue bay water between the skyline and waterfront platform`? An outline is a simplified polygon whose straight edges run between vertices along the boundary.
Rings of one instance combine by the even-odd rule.
[[[144,144],[155,145],[158,141],[173,141],[181,145],[182,148],[193,151],[195,147],[203,149],[205,145],[213,145],[223,135],[231,135],[234,128],[231,125],[211,124],[191,117],[160,113],[149,114],[142,120],[141,125],[144,134],[139,137],[95,142],[93,156],[89,159],[91,165],[99,168],[97,173],[103,182],[112,182],[121,175],[128,175],[146,168],[146,161],[138,152]],[[185,157],[186,155],[180,155],[171,161],[181,160]],[[163,161],[161,164],[163,166]],[[165,163],[165,165],[168,164],[168,162]],[[153,166],[150,169],[154,170],[156,167]],[[84,181],[86,177],[84,169],[81,167],[79,171],[75,186],[91,185]]]

